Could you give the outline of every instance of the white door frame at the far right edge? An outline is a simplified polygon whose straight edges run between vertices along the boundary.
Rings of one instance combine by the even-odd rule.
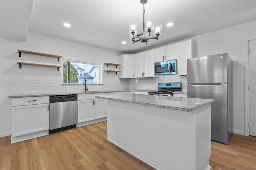
[[[249,41],[256,36],[245,39],[244,55],[244,135],[249,136]]]

